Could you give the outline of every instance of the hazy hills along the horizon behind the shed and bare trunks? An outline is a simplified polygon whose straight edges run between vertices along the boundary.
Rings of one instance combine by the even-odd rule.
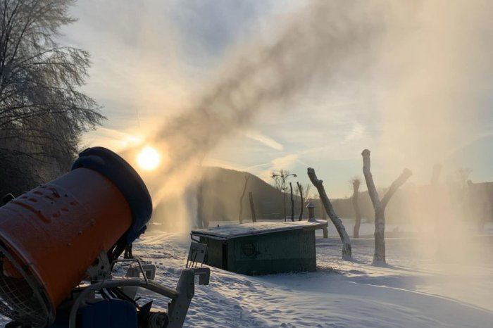
[[[250,175],[243,198],[242,218],[245,221],[251,220],[251,210],[249,204],[249,192],[252,192],[256,216],[259,220],[283,220],[284,197],[280,191],[251,175],[248,172],[228,170],[225,168],[207,167],[204,168],[201,184],[197,182],[187,189],[185,194],[185,208],[180,209],[178,205],[180,199],[169,198],[159,204],[155,210],[155,217],[159,217],[160,222],[173,222],[176,217],[186,215],[189,222],[197,221],[197,191],[201,185],[202,190],[202,210],[201,216],[204,221],[238,221],[239,198],[244,188],[244,179]],[[433,215],[448,215],[447,213],[431,213],[426,208],[437,206],[432,203],[437,196],[447,199],[458,199],[454,206],[449,206],[455,215],[468,215],[474,220],[485,217],[491,220],[493,204],[493,185],[491,183],[470,184],[468,190],[455,190],[450,187],[442,186],[439,194],[430,194],[429,186],[415,186],[413,184],[404,185],[399,189],[392,201],[387,206],[385,216],[389,223],[418,223],[426,225],[427,220],[435,220]],[[379,189],[380,197],[385,194],[385,189]],[[286,213],[287,220],[291,215],[291,201],[289,194],[286,194]],[[180,196],[182,197],[182,196]],[[447,203],[450,202],[447,201]],[[354,218],[354,208],[351,198],[332,199],[332,205],[339,217]],[[316,217],[325,217],[323,206],[318,199],[312,200],[316,205]],[[306,204],[304,205],[306,206]],[[363,222],[373,221],[373,206],[368,196],[368,191],[361,191],[359,196],[359,206],[363,217]],[[299,196],[294,195],[294,220],[298,220],[301,208]],[[304,208],[303,217],[307,217],[307,210]],[[473,217],[474,216],[474,217]],[[416,222],[414,222],[416,221]],[[351,231],[351,227],[346,227]]]

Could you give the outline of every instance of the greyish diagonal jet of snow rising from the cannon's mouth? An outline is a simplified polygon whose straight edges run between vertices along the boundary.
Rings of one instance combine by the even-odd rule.
[[[384,25],[381,5],[313,1],[280,20],[277,33],[232,50],[222,73],[192,101],[194,106],[168,120],[151,139],[168,157],[148,182],[154,203],[168,204],[177,199],[173,195],[187,194],[189,206],[180,212],[195,217],[192,195],[201,179],[197,164],[221,140],[251,125],[261,111],[288,108],[308,90],[363,74],[375,61]],[[238,188],[240,194],[242,186]]]

